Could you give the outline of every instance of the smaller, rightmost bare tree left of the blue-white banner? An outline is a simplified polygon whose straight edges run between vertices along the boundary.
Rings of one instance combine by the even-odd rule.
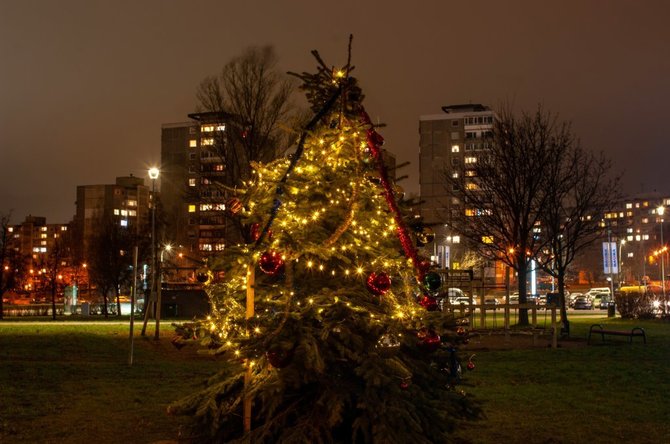
[[[582,149],[566,146],[555,180],[548,183],[549,205],[542,214],[546,247],[539,252],[539,266],[558,281],[563,331],[570,332],[565,300],[565,276],[576,255],[603,235],[606,211],[619,200],[619,177],[612,177],[611,162]]]

